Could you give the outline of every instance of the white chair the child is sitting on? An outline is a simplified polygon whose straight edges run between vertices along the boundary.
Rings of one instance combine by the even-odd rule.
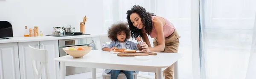
[[[111,40],[108,38],[108,35],[99,35],[99,41],[100,41],[100,45],[101,45],[101,49],[103,45],[106,45],[107,42],[111,42]],[[111,79],[111,74],[107,74],[104,72],[105,69],[102,72],[102,78],[103,79]],[[137,74],[138,73],[133,73],[133,79],[137,79]],[[120,73],[117,77],[117,79],[126,79],[126,76],[124,73]]]

